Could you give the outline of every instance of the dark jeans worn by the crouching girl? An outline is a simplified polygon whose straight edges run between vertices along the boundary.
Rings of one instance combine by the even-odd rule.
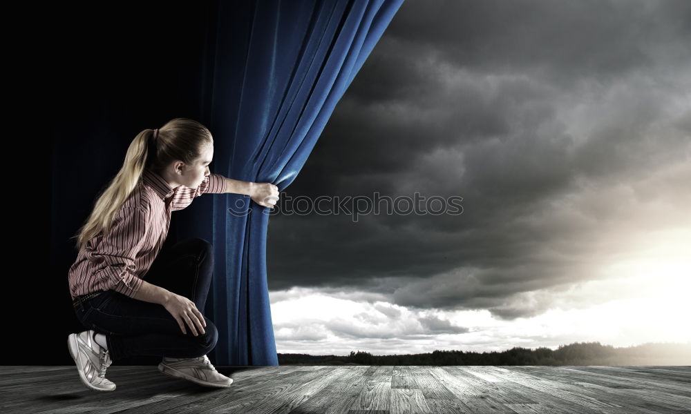
[[[211,285],[214,257],[211,244],[193,237],[161,250],[142,277],[151,284],[166,288],[194,302],[202,315]],[[218,341],[213,322],[204,317],[205,333],[194,336],[183,321],[178,321],[164,306],[144,302],[109,289],[75,309],[84,326],[106,335],[113,361],[133,355],[193,358],[206,355]]]

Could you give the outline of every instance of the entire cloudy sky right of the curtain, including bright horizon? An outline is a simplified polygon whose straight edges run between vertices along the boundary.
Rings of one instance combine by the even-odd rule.
[[[278,352],[691,341],[690,45],[684,0],[406,0],[269,219]],[[462,213],[295,201],[375,193]]]

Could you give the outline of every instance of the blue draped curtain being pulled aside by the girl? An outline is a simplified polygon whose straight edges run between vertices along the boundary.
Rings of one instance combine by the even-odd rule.
[[[402,3],[220,1],[203,111],[211,114],[213,172],[289,186]],[[218,326],[214,363],[278,365],[266,273],[271,209],[243,195],[213,203],[206,311]]]

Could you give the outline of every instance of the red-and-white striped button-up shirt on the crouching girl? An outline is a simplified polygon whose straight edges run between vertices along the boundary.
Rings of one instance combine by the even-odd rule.
[[[171,188],[163,177],[144,169],[140,183],[115,213],[108,234],[102,231],[79,250],[68,275],[72,299],[108,289],[133,297],[165,242],[171,212],[205,193],[225,193],[225,177],[210,174],[195,189]]]

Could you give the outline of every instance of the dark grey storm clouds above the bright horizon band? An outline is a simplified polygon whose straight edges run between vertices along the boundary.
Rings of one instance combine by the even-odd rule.
[[[512,319],[596,277],[647,195],[688,224],[679,176],[627,188],[691,155],[690,22],[688,1],[407,0],[284,194],[463,214],[276,215],[269,287]]]

